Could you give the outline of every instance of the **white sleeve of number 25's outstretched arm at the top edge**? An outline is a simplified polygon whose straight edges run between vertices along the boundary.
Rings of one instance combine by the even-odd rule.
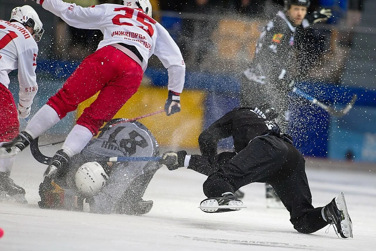
[[[37,0],[36,2],[60,17],[65,23],[80,29],[100,29],[100,20],[106,12],[106,5],[83,8],[75,3],[66,3],[61,0]]]

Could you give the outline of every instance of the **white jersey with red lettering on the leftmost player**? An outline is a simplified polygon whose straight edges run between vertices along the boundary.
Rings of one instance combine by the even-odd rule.
[[[0,20],[0,84],[9,86],[8,74],[18,68],[19,103],[28,107],[38,90],[36,56],[38,46],[30,32],[18,22]]]

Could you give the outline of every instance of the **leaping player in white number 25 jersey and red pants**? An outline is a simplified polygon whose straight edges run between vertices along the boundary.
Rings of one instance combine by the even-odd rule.
[[[153,54],[168,70],[165,112],[171,115],[180,111],[179,95],[183,90],[185,64],[170,34],[151,17],[149,0],[126,0],[123,5],[102,4],[88,8],[61,0],[36,2],[70,26],[100,29],[104,38],[97,51],[82,61],[58,93],[32,117],[25,130],[0,148],[0,157],[14,156],[22,151],[30,140],[100,91],[97,99],[83,111],[44,173],[47,178],[55,176],[97,134],[100,126],[111,120],[136,93],[147,61]]]

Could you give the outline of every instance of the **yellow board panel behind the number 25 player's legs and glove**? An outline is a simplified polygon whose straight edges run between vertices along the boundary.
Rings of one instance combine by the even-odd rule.
[[[77,118],[97,95],[82,102],[77,108]],[[140,87],[114,118],[132,119],[164,108],[167,88]],[[184,90],[181,94],[182,111],[166,116],[165,113],[140,119],[153,133],[159,145],[173,148],[197,148],[198,137],[203,128],[205,93],[197,90]],[[177,149],[173,149],[177,150]]]

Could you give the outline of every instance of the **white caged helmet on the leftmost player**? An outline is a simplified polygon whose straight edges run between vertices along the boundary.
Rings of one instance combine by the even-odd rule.
[[[44,33],[43,24],[39,19],[36,11],[29,5],[16,7],[12,10],[11,19],[9,20],[20,22],[23,25],[27,25],[34,30],[32,35],[35,35],[35,41],[39,42]]]

